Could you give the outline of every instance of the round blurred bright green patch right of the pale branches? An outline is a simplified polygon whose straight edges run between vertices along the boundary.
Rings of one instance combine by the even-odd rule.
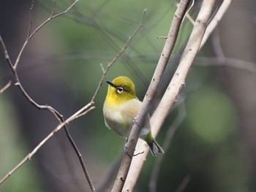
[[[200,88],[187,101],[190,128],[209,143],[223,142],[236,128],[236,114],[230,99],[214,88]]]

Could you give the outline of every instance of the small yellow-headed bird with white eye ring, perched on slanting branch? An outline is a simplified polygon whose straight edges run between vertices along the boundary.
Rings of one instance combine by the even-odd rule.
[[[141,101],[135,94],[135,85],[125,76],[116,77],[113,81],[106,82],[109,85],[103,106],[105,125],[116,134],[128,139],[133,119],[141,106]],[[164,153],[162,147],[152,137],[149,115],[140,131],[140,139],[148,144],[153,156]]]

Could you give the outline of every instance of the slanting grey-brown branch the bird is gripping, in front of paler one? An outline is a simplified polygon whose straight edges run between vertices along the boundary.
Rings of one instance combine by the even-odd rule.
[[[115,181],[115,184],[113,185],[112,191],[115,191],[115,192],[121,191],[122,188],[124,187],[124,182],[127,179],[129,166],[131,165],[131,161],[132,161],[132,154],[134,153],[135,146],[138,142],[141,126],[143,124],[143,121],[146,118],[151,101],[159,86],[159,82],[162,80],[162,75],[165,72],[165,67],[167,66],[167,62],[170,58],[170,54],[172,53],[173,47],[178,37],[178,31],[179,31],[179,28],[181,27],[181,22],[182,22],[182,19],[184,18],[188,4],[189,4],[189,0],[183,0],[181,1],[180,4],[178,4],[178,9],[176,10],[176,13],[174,15],[173,23],[170,26],[170,31],[167,36],[167,41],[165,42],[165,47],[162,50],[161,57],[159,58],[157,68],[154,72],[151,83],[148,87],[146,96],[143,99],[142,106],[138,112],[137,117],[134,120],[135,123],[133,124],[132,131],[129,134],[129,139],[124,146],[125,153],[123,155],[121,166],[118,171],[118,175],[116,177],[116,181]],[[132,188],[125,188],[125,191],[132,191]]]

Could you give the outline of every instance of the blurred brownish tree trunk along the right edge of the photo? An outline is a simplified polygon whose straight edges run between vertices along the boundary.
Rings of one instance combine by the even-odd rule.
[[[219,25],[222,49],[226,57],[238,58],[256,65],[255,1],[234,0]],[[241,63],[243,66],[243,63]],[[238,112],[238,148],[244,150],[244,162],[256,180],[256,74],[226,67],[222,71],[225,90]],[[244,143],[245,146],[239,145]],[[252,182],[254,183],[254,182]]]

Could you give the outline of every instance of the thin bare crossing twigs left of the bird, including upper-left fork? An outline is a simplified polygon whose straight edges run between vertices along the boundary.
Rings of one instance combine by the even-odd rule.
[[[78,0],[77,0],[78,1]],[[77,2],[75,1],[75,2]],[[55,1],[53,1],[54,3]],[[75,2],[71,5],[75,5]],[[32,4],[31,6],[31,9],[33,7],[34,4]],[[54,15],[54,9],[55,9],[55,3],[53,4],[53,11],[51,13],[51,16],[50,18],[48,18],[48,20],[45,20],[44,23],[42,23],[32,34],[30,34],[30,31],[31,31],[31,26],[29,27],[29,36],[28,38],[26,39],[26,42],[24,43],[22,49],[20,50],[20,53],[18,55],[18,58],[17,60],[20,59],[20,55],[22,55],[23,53],[23,50],[24,48],[26,47],[27,43],[29,42],[29,39],[31,39],[31,37],[33,37],[34,34],[37,33],[37,31],[39,30],[39,28],[42,28],[42,26],[44,26],[46,23],[48,23],[50,20],[52,20],[53,18],[56,18],[57,16],[59,15],[63,15],[65,14],[70,8],[71,6],[66,9],[64,12],[61,12],[59,14],[56,14]],[[143,17],[141,18],[140,20],[140,24],[138,26],[138,28],[135,29],[135,31],[133,32],[133,34],[131,36],[129,36],[129,38],[127,39],[127,42],[124,44],[124,47],[122,47],[122,49],[118,52],[118,54],[116,55],[115,58],[113,58],[113,61],[111,61],[107,68],[104,69],[102,67],[102,77],[101,77],[101,80],[99,80],[99,85],[97,87],[97,90],[95,91],[94,93],[94,96],[92,96],[91,98],[91,101],[89,102],[89,104],[86,104],[85,107],[83,107],[82,109],[78,110],[78,112],[75,112],[74,115],[70,116],[67,120],[64,120],[64,118],[62,117],[62,115],[57,112],[55,109],[53,109],[53,107],[50,107],[48,105],[39,105],[37,104],[37,102],[35,102],[33,99],[30,98],[30,96],[26,93],[26,91],[23,89],[22,85],[20,84],[20,81],[18,79],[18,74],[16,72],[16,66],[18,65],[18,61],[16,60],[16,63],[15,63],[15,66],[12,65],[12,61],[10,61],[10,57],[9,57],[9,54],[7,52],[7,48],[5,47],[4,45],[4,41],[1,39],[1,36],[0,36],[0,44],[1,44],[1,47],[3,49],[3,52],[4,52],[4,57],[7,59],[7,63],[9,64],[10,68],[12,69],[12,72],[14,74],[14,77],[15,77],[15,85],[18,86],[18,88],[20,88],[20,91],[23,93],[23,95],[26,97],[26,99],[29,100],[29,102],[31,102],[31,104],[33,104],[35,107],[37,107],[37,109],[39,110],[50,110],[50,112],[53,112],[53,115],[56,116],[56,118],[60,121],[59,125],[56,126],[56,128],[54,128],[53,131],[50,132],[50,134],[48,134],[47,137],[45,137],[45,139],[42,140],[42,142],[39,143],[39,145],[37,145],[37,147],[34,148],[34,150],[31,151],[31,153],[29,153],[28,155],[26,155],[25,158],[23,158],[22,161],[20,161],[20,163],[15,166],[15,168],[13,168],[10,172],[8,172],[8,174],[6,174],[1,180],[0,180],[0,185],[1,183],[3,183],[5,180],[7,180],[8,177],[10,177],[15,171],[17,171],[20,166],[23,166],[23,164],[26,163],[26,161],[28,160],[31,160],[32,156],[37,153],[37,150],[39,150],[40,147],[42,147],[42,145],[45,144],[45,142],[48,141],[48,139],[50,139],[51,137],[53,137],[54,134],[56,134],[57,131],[59,131],[62,127],[65,128],[65,131],[66,131],[66,134],[67,134],[67,137],[69,139],[69,142],[71,142],[72,144],[72,147],[74,148],[75,152],[77,153],[78,155],[78,158],[80,160],[80,164],[81,166],[83,167],[83,172],[85,173],[86,175],[86,179],[88,180],[89,182],[89,185],[90,185],[90,188],[91,188],[91,191],[95,191],[95,188],[94,188],[94,185],[93,183],[91,182],[91,179],[89,177],[89,174],[87,172],[87,169],[86,169],[86,166],[83,162],[83,158],[82,158],[82,155],[80,155],[80,152],[78,150],[78,148],[75,146],[75,142],[73,142],[72,140],[72,137],[70,137],[69,133],[68,133],[68,129],[67,129],[67,124],[72,122],[73,120],[77,119],[77,118],[80,118],[80,116],[82,115],[86,115],[86,113],[90,112],[91,110],[93,110],[95,107],[93,106],[94,105],[94,100],[97,96],[97,94],[99,93],[99,89],[101,88],[102,86],[102,82],[105,78],[105,74],[107,74],[108,70],[110,69],[111,66],[113,66],[113,64],[117,61],[117,59],[124,53],[124,50],[127,49],[129,43],[132,41],[133,37],[135,37],[135,34],[138,33],[138,31],[140,30],[140,28],[143,26],[143,20],[144,20],[144,16],[145,16],[145,13],[146,13],[146,9],[144,9],[143,11]],[[32,22],[31,22],[32,23]]]

